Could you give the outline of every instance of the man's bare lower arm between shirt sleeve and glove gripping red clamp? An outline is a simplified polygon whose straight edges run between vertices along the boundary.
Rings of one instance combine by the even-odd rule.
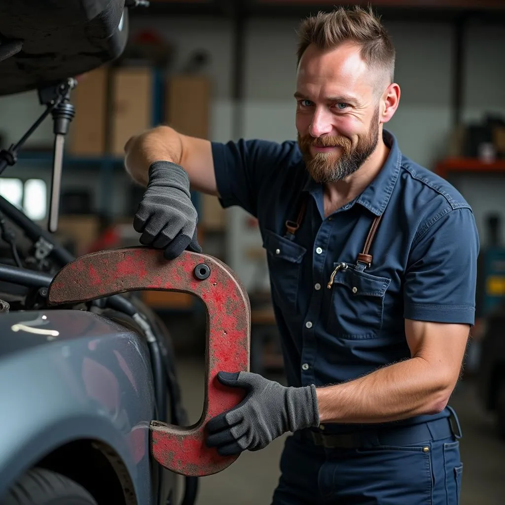
[[[460,375],[469,325],[406,320],[412,358],[317,389],[321,423],[380,423],[442,411]]]

